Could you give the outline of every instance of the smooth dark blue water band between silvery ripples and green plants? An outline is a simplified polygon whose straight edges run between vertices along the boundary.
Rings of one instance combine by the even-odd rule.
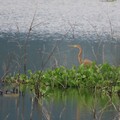
[[[23,37],[24,35],[21,35]],[[17,37],[17,36],[16,36]],[[33,37],[33,36],[31,36]],[[80,44],[83,48],[83,59],[88,58],[95,61],[97,64],[109,63],[113,65],[120,65],[120,42],[118,40],[111,41],[108,38],[100,38],[101,40],[95,41],[92,38],[76,38],[67,41],[69,36],[64,40],[54,41],[54,35],[50,38],[45,38],[47,41],[42,41],[40,37],[35,41],[29,41],[27,46],[27,69],[40,70],[45,68],[54,68],[56,66],[65,66],[70,68],[73,65],[79,65],[77,60],[77,49],[68,47],[71,44]],[[59,36],[58,36],[59,38]],[[62,38],[62,36],[60,37]],[[60,39],[59,38],[59,39]],[[12,42],[13,36],[10,34],[9,41],[7,36],[0,41],[0,76],[4,76],[8,72],[23,71],[23,47],[19,49],[16,42],[20,42],[20,45],[24,45],[24,39],[21,41]],[[32,38],[30,38],[32,39]],[[23,41],[22,41],[23,40]],[[110,40],[110,41],[109,41]],[[7,48],[7,49],[6,49]]]

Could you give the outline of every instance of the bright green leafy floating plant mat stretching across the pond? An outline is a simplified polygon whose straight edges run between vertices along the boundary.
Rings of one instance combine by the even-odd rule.
[[[19,86],[19,90],[32,91],[38,98],[58,89],[89,89],[100,94],[120,95],[120,67],[109,64],[84,66],[68,69],[64,66],[54,70],[28,71],[26,74],[9,74],[4,78],[5,85]]]

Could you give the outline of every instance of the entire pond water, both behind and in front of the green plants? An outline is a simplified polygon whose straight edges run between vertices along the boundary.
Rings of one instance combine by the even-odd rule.
[[[82,46],[83,58],[120,65],[120,0],[0,0],[1,78],[7,72],[23,71],[29,30],[27,69],[78,66],[78,50],[69,48],[71,44]],[[119,98],[115,106],[101,111],[109,101],[106,96],[96,101],[85,91],[55,91],[39,104],[29,94],[0,96],[0,120],[120,119],[115,109],[120,107]]]

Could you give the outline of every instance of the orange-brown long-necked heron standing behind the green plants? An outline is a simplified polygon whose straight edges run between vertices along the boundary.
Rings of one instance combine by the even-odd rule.
[[[80,64],[84,64],[84,65],[92,65],[92,61],[89,59],[82,59],[82,48],[80,45],[69,45],[69,47],[74,47],[74,48],[78,48],[79,49],[79,53],[78,53],[78,61]]]

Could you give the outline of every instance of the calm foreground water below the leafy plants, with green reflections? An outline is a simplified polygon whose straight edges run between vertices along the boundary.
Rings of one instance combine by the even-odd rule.
[[[8,120],[119,120],[120,99],[78,90],[52,91],[35,99],[0,96],[0,118]]]

